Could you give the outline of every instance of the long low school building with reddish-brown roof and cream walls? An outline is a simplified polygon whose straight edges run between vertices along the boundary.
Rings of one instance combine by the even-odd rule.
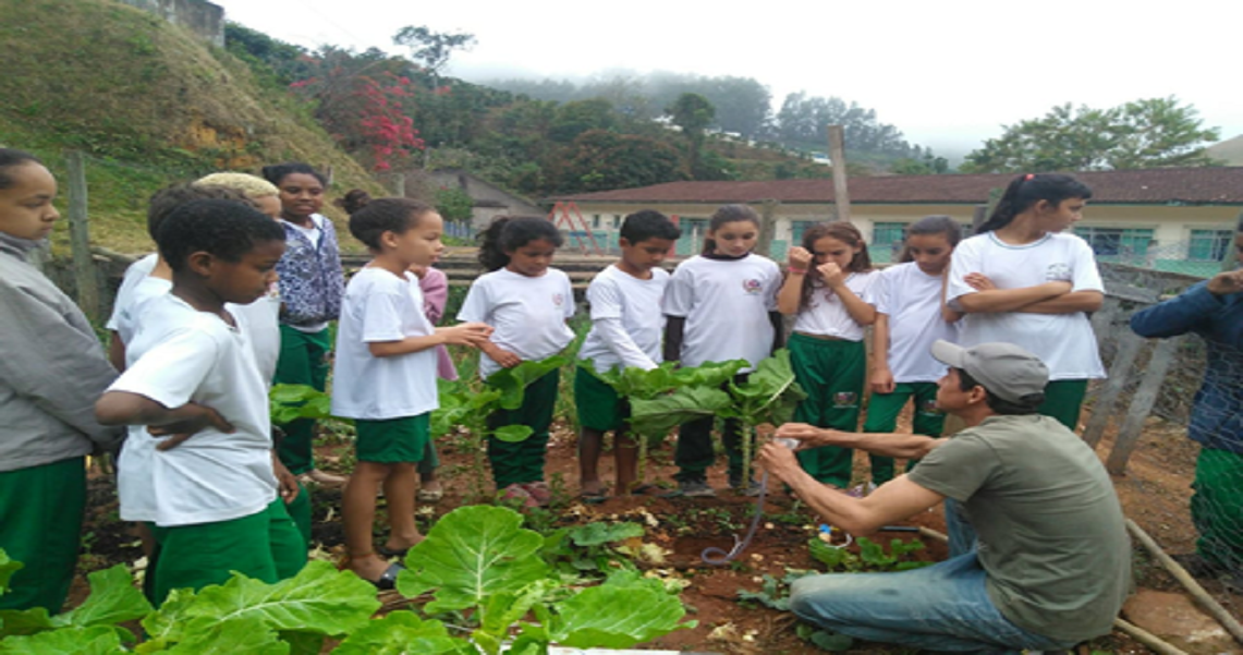
[[[1101,261],[1192,275],[1219,270],[1243,211],[1243,167],[1167,168],[1076,173],[1093,199],[1074,232]],[[977,208],[998,198],[1011,174],[891,175],[851,178],[850,220],[868,240],[873,260],[891,261],[904,229],[943,214],[970,227]],[[679,255],[699,251],[716,208],[742,203],[774,218],[772,256],[783,259],[803,231],[833,215],[833,180],[675,181],[549,199],[577,209],[597,242],[612,247],[622,219],[639,209],[676,216]],[[585,236],[574,220],[571,242]],[[577,232],[577,234],[576,234]]]

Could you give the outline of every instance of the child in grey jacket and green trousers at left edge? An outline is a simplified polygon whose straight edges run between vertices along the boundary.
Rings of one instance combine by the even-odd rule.
[[[117,377],[82,312],[26,261],[60,219],[56,179],[0,148],[0,548],[21,562],[0,610],[65,604],[81,546],[86,455],[119,430],[94,400]]]

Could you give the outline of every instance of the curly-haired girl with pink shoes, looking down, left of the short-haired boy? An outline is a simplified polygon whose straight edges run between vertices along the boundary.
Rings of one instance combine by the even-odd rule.
[[[479,373],[485,382],[501,368],[546,359],[574,341],[574,331],[566,324],[574,316],[574,290],[569,276],[549,267],[562,242],[561,231],[537,216],[500,216],[480,235],[479,261],[490,272],[471,285],[457,319],[496,329],[480,347]],[[561,372],[549,372],[527,385],[522,406],[488,418],[492,429],[526,425],[532,430],[513,444],[487,440],[496,488],[527,507],[551,500],[543,467],[559,382]]]

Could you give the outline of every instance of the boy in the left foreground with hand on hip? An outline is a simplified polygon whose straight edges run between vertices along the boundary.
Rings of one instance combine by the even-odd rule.
[[[292,577],[306,542],[278,497],[267,380],[245,318],[226,307],[267,293],[285,232],[240,203],[194,200],[173,210],[157,241],[173,288],[143,306],[129,368],[96,415],[175,435],[145,467],[118,470],[122,485],[149,487],[139,510],[150,512],[158,544],[147,574],[159,604],[172,589],[221,584],[235,570],[268,583]]]

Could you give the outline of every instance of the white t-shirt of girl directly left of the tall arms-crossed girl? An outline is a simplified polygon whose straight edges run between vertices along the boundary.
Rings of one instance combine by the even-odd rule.
[[[876,311],[889,317],[889,370],[894,382],[936,382],[945,364],[932,358],[932,343],[958,343],[958,324],[941,318],[941,276],[915,262],[890,266],[871,286]]]

